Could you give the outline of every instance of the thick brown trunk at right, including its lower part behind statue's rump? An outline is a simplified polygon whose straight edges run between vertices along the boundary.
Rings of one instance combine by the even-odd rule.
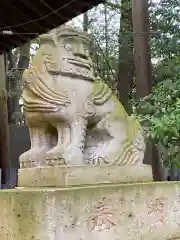
[[[152,90],[152,66],[149,48],[148,0],[133,0],[133,36],[136,66],[136,94],[143,98]],[[163,180],[161,162],[156,146],[148,142],[144,163],[152,166],[155,181]]]

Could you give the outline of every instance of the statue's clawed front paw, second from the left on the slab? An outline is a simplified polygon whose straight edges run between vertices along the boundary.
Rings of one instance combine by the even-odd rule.
[[[66,164],[63,156],[64,150],[60,147],[54,147],[46,153],[45,164],[48,166],[59,166]]]

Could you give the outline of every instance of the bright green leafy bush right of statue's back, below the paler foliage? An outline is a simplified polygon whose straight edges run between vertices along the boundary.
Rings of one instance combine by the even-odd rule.
[[[152,93],[135,102],[146,136],[167,149],[165,164],[180,161],[180,59],[165,60],[155,69]],[[161,80],[161,81],[160,81]]]

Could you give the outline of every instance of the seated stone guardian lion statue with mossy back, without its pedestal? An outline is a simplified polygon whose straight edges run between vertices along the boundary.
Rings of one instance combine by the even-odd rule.
[[[95,79],[90,38],[71,28],[40,37],[23,74],[31,149],[21,168],[61,164],[142,164],[145,143],[111,89]]]

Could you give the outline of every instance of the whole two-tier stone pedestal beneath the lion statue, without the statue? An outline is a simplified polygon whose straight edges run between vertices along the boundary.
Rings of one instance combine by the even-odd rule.
[[[152,183],[150,170],[21,169],[21,187],[0,191],[0,239],[180,239],[180,183]]]

